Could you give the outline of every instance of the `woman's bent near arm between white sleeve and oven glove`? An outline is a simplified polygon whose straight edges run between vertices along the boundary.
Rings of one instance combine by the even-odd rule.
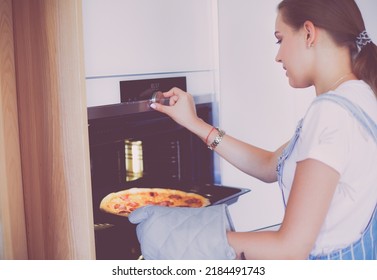
[[[228,232],[237,256],[247,259],[306,259],[325,220],[339,173],[306,159],[297,163],[285,216],[279,231]]]

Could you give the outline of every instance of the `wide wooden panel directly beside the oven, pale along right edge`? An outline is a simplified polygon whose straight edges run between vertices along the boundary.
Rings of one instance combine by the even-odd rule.
[[[13,0],[30,259],[93,259],[81,1]]]

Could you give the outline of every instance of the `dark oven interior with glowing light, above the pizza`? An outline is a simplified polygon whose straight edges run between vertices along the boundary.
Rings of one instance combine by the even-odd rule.
[[[183,130],[96,145],[91,148],[92,184],[121,188],[140,180],[191,180],[191,146]]]

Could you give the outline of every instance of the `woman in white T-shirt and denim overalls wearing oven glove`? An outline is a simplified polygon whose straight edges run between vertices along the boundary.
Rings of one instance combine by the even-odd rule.
[[[317,95],[290,143],[275,152],[243,143],[203,122],[195,114],[192,97],[177,88],[164,93],[170,106],[152,107],[198,135],[240,170],[265,182],[278,180],[286,203],[279,231],[234,232],[224,208],[208,214],[222,217],[217,221],[222,226],[211,225],[211,229],[202,223],[201,217],[208,218],[207,209],[197,213],[199,210],[192,209],[139,209],[130,220],[140,223],[138,237],[149,258],[377,258],[377,140],[355,112],[350,114],[339,104],[320,98],[345,97],[362,108],[376,127],[377,46],[365,31],[353,0],[284,0],[278,6],[275,36],[280,44],[276,61],[282,63],[290,85],[314,86]],[[190,226],[183,223],[178,227],[181,231],[170,224],[192,216],[197,221]],[[195,255],[203,241],[192,237],[194,233],[185,235],[195,222],[204,225],[202,240],[210,236],[205,239],[208,255]],[[196,249],[188,255],[164,255],[156,247],[153,253],[150,247],[156,240],[152,237],[159,231],[153,224],[168,229],[161,233],[168,236],[162,248],[172,243],[170,250],[174,246],[183,247],[180,252],[189,246]],[[175,238],[186,247],[175,244]],[[211,255],[215,247],[224,250]]]

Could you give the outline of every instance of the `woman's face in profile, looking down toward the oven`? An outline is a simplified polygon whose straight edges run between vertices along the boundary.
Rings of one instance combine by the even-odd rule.
[[[311,78],[311,54],[308,51],[307,32],[304,28],[295,30],[283,21],[278,13],[275,37],[279,44],[276,61],[283,64],[289,84],[294,88],[306,88],[313,84]]]

